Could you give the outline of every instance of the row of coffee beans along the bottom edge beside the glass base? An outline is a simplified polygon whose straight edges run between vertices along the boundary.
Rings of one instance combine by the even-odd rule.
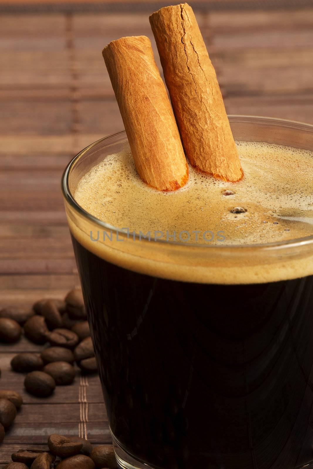
[[[5,469],[116,469],[113,446],[92,447],[79,437],[53,434],[47,450],[20,449],[13,453]]]

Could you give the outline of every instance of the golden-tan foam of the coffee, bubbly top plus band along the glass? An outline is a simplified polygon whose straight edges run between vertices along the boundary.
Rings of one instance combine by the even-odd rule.
[[[130,150],[126,149],[107,156],[85,174],[74,197],[87,212],[119,229],[150,232],[151,239],[156,235],[168,237],[169,241],[174,240],[176,232],[175,241],[184,245],[182,248],[188,244],[198,244],[199,248],[200,244],[215,245],[216,249],[259,245],[313,235],[313,152],[275,144],[239,142],[237,146],[244,169],[244,179],[237,183],[215,180],[190,166],[189,181],[182,189],[159,192],[140,180]],[[258,259],[254,249],[242,259],[244,268],[233,258],[219,259],[216,249],[210,254],[204,251],[211,260],[202,262],[202,255],[195,261],[200,252],[196,247],[193,260],[179,254],[181,260],[184,257],[183,272],[177,265],[177,253],[173,258],[167,253],[162,265],[160,256],[155,255],[160,248],[154,242],[149,243],[149,248],[145,243],[145,252],[150,250],[151,255],[143,255],[142,242],[133,242],[125,252],[124,246],[120,251],[101,239],[92,242],[71,223],[70,228],[78,241],[99,257],[160,277],[251,283],[313,274],[312,247],[305,254],[299,252],[292,261],[290,257],[279,260],[277,255],[275,259],[272,254],[268,259],[261,258],[264,250]]]

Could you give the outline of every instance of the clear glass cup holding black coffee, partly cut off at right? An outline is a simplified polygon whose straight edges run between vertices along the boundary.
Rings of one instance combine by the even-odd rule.
[[[313,126],[229,116],[237,141],[313,151]],[[73,194],[127,144],[66,168],[65,209],[121,468],[293,469],[313,461],[313,235],[288,242],[149,242]],[[192,280],[192,281],[191,281]]]

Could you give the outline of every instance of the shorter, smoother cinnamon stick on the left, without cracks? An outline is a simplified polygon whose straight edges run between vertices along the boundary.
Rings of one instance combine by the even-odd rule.
[[[102,55],[139,176],[155,189],[179,189],[187,182],[188,166],[150,40],[120,38]]]

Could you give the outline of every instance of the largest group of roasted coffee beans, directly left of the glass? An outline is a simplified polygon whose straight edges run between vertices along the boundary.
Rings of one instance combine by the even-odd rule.
[[[75,361],[84,373],[97,371],[80,289],[69,291],[64,301],[43,299],[32,309],[0,310],[0,342],[14,343],[22,333],[36,344],[49,345],[41,354],[19,353],[11,360],[14,371],[28,373],[24,386],[29,393],[47,397],[55,386],[71,384]]]

